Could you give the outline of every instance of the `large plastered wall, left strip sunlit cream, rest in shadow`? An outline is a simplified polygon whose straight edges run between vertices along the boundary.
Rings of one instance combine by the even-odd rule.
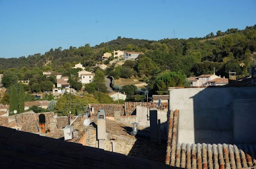
[[[233,143],[232,106],[256,99],[255,87],[170,90],[171,110],[179,109],[178,143]]]

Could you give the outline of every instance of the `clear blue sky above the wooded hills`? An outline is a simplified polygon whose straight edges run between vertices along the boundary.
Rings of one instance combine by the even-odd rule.
[[[0,58],[91,46],[117,36],[148,40],[204,37],[256,24],[254,0],[0,0]],[[0,63],[1,64],[1,63]]]

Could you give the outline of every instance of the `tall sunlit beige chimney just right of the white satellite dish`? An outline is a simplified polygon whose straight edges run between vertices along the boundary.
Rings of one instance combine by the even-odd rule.
[[[105,148],[105,137],[106,137],[106,121],[105,121],[105,111],[98,110],[98,120],[97,120],[97,139],[98,139],[98,148]]]

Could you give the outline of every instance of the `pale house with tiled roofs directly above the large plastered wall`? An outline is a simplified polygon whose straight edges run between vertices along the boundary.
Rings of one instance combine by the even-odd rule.
[[[198,77],[188,77],[187,80],[190,82],[191,87],[207,86],[207,82],[219,78],[215,74],[202,74]]]

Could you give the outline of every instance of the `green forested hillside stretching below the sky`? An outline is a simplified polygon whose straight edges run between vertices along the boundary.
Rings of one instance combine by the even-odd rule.
[[[162,39],[159,41],[139,40],[118,37],[108,43],[94,47],[86,44],[62,50],[50,49],[45,54],[33,54],[28,57],[0,59],[0,73],[11,68],[55,70],[63,72],[80,62],[84,66],[95,66],[101,61],[103,52],[113,50],[142,51],[141,64],[152,64],[142,69],[139,65],[130,66],[135,76],[151,76],[165,70],[181,72],[186,76],[213,73],[227,75],[235,71],[239,76],[248,74],[248,68],[256,58],[256,25],[247,26],[245,30],[228,29],[210,33],[203,38]],[[129,67],[129,66],[128,66]],[[152,70],[155,69],[156,71]],[[109,70],[111,72],[111,70]],[[136,74],[137,72],[137,74]]]

